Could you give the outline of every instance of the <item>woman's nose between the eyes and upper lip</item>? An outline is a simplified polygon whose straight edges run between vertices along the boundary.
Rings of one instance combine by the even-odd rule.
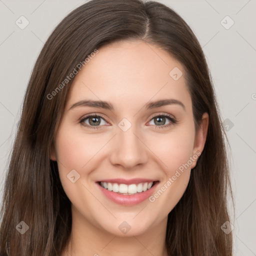
[[[124,169],[130,170],[147,161],[147,147],[143,143],[143,136],[139,134],[135,125],[131,125],[126,131],[117,129],[117,134],[112,141],[113,150],[110,155],[110,161],[113,165],[121,165]]]

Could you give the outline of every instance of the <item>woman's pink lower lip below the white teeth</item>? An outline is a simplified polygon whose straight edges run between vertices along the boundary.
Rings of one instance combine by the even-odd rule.
[[[147,199],[153,193],[157,183],[158,181],[155,182],[155,184],[146,191],[132,195],[118,194],[116,192],[109,191],[108,189],[103,188],[99,183],[96,184],[99,186],[99,189],[103,192],[103,194],[113,202],[122,205],[135,205]]]

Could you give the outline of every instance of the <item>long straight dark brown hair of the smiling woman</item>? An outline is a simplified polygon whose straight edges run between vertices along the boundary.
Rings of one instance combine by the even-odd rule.
[[[69,13],[53,30],[34,65],[4,184],[0,255],[59,255],[71,231],[71,204],[50,150],[72,79],[49,94],[93,50],[113,41],[140,39],[165,49],[186,70],[195,127],[209,114],[204,150],[188,186],[168,214],[169,255],[232,254],[231,194],[225,133],[202,49],[185,21],[172,9],[142,0],[92,0]],[[28,230],[20,234],[20,221]]]

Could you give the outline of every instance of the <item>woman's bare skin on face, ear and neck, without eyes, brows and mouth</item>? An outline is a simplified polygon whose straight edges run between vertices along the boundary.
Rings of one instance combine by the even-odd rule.
[[[51,155],[72,204],[71,242],[61,256],[167,255],[167,215],[186,189],[208,128],[204,113],[195,132],[185,79],[169,75],[174,67],[183,72],[182,65],[157,46],[122,41],[100,48],[75,76]],[[183,106],[144,107],[149,101],[170,98]],[[70,109],[85,99],[108,101],[113,109],[84,105]],[[90,117],[82,125],[79,120],[88,114],[103,119],[98,117],[100,124],[93,126]],[[176,123],[163,117],[159,125],[156,117],[162,114]],[[118,126],[123,118],[128,120],[124,125],[131,124],[126,131]],[[185,163],[189,167],[177,176],[176,170]],[[72,169],[80,175],[74,183],[67,178]],[[167,185],[173,175],[177,177]],[[155,192],[165,187],[164,192],[129,206],[109,200],[96,184],[107,178],[138,177],[158,180]],[[130,226],[127,233],[118,228],[123,221]]]

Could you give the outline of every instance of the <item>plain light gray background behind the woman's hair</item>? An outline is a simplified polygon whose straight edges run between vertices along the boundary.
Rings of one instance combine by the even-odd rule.
[[[185,19],[203,47],[231,147],[234,255],[256,255],[256,1],[158,1]],[[0,196],[35,59],[56,24],[84,2],[0,0]],[[15,24],[21,15],[29,21],[24,29]],[[228,29],[226,15],[234,21]]]

